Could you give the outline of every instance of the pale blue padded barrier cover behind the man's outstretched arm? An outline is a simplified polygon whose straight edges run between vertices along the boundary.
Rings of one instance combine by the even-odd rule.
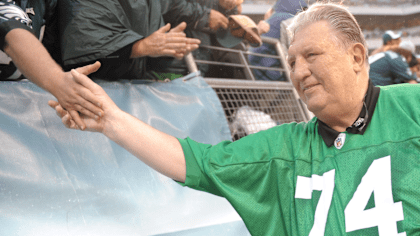
[[[99,84],[161,131],[230,139],[216,94],[189,77]],[[0,235],[249,234],[225,199],[181,187],[102,134],[66,129],[53,98],[30,82],[0,83]]]

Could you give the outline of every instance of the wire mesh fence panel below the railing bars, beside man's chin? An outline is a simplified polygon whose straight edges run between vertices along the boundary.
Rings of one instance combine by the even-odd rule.
[[[206,82],[219,97],[233,140],[282,123],[307,120],[290,83],[226,79]]]

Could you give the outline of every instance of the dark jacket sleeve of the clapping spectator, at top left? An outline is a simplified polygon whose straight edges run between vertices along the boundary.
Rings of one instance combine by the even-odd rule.
[[[145,2],[61,0],[58,9],[64,66],[106,58],[156,31],[162,16],[151,12]],[[152,10],[160,11],[160,4],[152,3],[152,8],[159,6],[159,10]],[[150,22],[144,20],[147,15]]]

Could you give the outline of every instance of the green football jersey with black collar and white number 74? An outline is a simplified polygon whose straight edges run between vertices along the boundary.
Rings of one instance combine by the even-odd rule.
[[[211,146],[180,139],[185,186],[225,197],[252,235],[420,235],[420,86],[382,87],[365,133],[318,122]]]

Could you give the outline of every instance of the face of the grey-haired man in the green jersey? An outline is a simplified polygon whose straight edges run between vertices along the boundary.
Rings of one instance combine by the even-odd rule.
[[[317,116],[322,112],[343,115],[346,109],[355,107],[360,95],[353,56],[333,37],[329,24],[319,21],[299,30],[289,48],[290,78],[303,102]]]

